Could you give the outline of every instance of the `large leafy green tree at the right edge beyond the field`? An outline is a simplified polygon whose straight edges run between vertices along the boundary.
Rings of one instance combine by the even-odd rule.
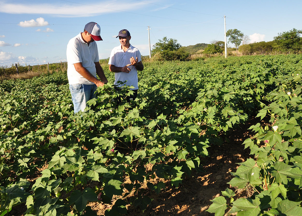
[[[298,53],[302,51],[302,30],[297,30],[293,28],[290,31],[284,31],[283,33],[278,33],[278,36],[274,37],[276,42],[276,48],[280,51],[293,51]]]

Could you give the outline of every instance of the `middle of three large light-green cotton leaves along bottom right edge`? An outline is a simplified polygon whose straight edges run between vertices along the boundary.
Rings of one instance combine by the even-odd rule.
[[[254,200],[239,198],[233,201],[233,205],[243,211],[238,211],[237,215],[257,216],[260,213],[260,199],[255,197]],[[245,212],[244,212],[245,211]]]

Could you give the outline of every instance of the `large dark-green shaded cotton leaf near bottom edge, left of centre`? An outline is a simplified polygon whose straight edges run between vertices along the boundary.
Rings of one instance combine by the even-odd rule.
[[[91,188],[85,188],[82,192],[79,190],[73,191],[69,198],[69,205],[74,203],[77,211],[82,213],[86,208],[87,201],[98,201],[97,195]]]

